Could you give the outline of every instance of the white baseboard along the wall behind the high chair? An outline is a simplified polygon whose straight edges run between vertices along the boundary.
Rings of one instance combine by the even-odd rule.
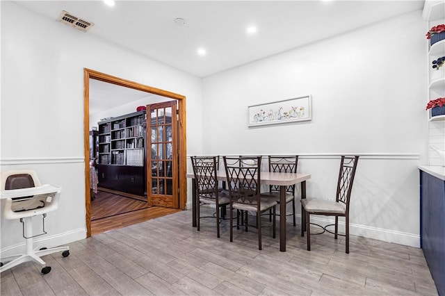
[[[34,238],[34,246],[33,247],[58,247],[63,246],[70,242],[75,242],[76,240],[82,240],[86,238],[86,229],[75,229],[72,231],[68,231],[65,233],[58,233],[54,236],[44,236],[42,238]],[[23,239],[23,242],[12,245],[9,247],[5,247],[1,249],[0,254],[1,257],[10,256],[13,254],[22,254],[26,252],[26,240]]]

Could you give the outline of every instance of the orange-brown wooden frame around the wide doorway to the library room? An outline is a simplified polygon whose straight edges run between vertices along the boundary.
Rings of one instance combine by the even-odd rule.
[[[186,97],[167,90],[152,88],[137,82],[121,79],[119,77],[83,68],[83,145],[85,152],[85,206],[86,206],[86,236],[91,236],[91,201],[90,201],[90,79],[96,79],[108,83],[133,88],[162,97],[176,99],[178,103],[179,122],[179,208],[184,210],[187,202],[187,151],[186,151]]]

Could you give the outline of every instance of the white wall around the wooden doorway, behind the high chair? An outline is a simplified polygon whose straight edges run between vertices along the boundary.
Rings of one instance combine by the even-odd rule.
[[[42,183],[63,187],[45,223],[49,234],[39,238],[47,247],[86,236],[84,68],[185,95],[188,151],[201,152],[201,79],[15,3],[0,5],[1,171],[36,170]],[[2,218],[1,253],[23,243],[21,224]]]

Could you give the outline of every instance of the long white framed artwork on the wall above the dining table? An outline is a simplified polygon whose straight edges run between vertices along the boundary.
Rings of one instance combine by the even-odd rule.
[[[312,120],[311,96],[248,106],[248,126]]]

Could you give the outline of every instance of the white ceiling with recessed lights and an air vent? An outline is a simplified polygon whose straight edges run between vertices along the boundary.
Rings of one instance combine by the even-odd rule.
[[[86,34],[205,77],[382,19],[424,1],[15,1],[49,19],[62,10],[95,25]],[[419,13],[420,15],[420,13]],[[186,20],[184,26],[173,22]],[[60,24],[65,26],[65,24]],[[256,26],[248,35],[246,28]],[[73,28],[74,30],[74,28]],[[207,49],[205,56],[197,48]]]

